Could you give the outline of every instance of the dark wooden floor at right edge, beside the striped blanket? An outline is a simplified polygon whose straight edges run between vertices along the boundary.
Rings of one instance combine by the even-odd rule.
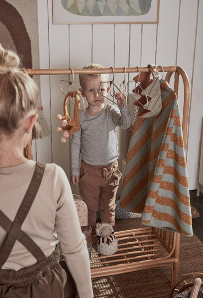
[[[200,216],[192,218],[193,233],[203,242],[203,194],[199,197],[196,195],[196,190],[190,191],[190,203],[199,212]]]

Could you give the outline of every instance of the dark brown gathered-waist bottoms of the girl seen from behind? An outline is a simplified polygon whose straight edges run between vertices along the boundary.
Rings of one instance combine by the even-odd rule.
[[[56,250],[43,261],[15,270],[0,270],[0,297],[2,298],[63,298],[66,273],[59,265],[60,252]]]

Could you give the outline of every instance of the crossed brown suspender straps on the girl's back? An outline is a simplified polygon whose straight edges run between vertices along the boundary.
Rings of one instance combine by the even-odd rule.
[[[0,210],[0,225],[8,233],[0,250],[0,268],[8,259],[16,240],[22,243],[29,250],[29,252],[36,257],[37,261],[45,258],[45,254],[40,247],[28,235],[20,230],[39,190],[45,167],[46,164],[44,163],[36,163],[36,168],[29,187],[13,222]]]

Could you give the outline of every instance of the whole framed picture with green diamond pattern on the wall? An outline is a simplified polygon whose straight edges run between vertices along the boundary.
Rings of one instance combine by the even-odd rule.
[[[157,24],[160,0],[52,0],[53,24]]]

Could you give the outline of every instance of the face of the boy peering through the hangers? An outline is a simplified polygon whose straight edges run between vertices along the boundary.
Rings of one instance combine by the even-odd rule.
[[[87,99],[89,105],[98,106],[105,102],[109,92],[109,84],[101,83],[101,78],[87,79],[83,89],[79,89],[82,96]],[[99,92],[100,89],[100,92]],[[104,96],[103,96],[104,95]]]

